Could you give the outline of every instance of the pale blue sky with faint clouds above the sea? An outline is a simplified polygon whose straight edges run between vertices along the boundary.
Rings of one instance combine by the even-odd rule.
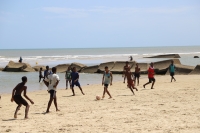
[[[0,49],[191,45],[199,0],[0,1]]]

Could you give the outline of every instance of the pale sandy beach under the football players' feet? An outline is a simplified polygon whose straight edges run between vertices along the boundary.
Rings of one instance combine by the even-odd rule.
[[[200,132],[200,75],[176,75],[177,82],[170,76],[156,76],[155,89],[148,81],[140,80],[139,91],[132,95],[122,82],[109,86],[113,96],[96,101],[102,96],[103,86],[83,86],[86,95],[75,88],[58,89],[58,107],[52,104],[50,113],[45,114],[49,94],[46,90],[28,92],[35,102],[31,105],[29,119],[24,120],[24,106],[18,118],[13,119],[16,104],[10,102],[10,94],[2,94],[0,100],[0,132],[12,133],[198,133]],[[101,82],[101,79],[99,79]],[[123,81],[123,79],[122,79]]]

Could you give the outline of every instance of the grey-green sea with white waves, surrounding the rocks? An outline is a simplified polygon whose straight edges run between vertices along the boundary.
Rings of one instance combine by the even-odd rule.
[[[160,54],[179,54],[183,65],[196,66],[200,64],[200,46],[169,46],[169,47],[121,47],[121,48],[59,48],[59,49],[0,49],[0,68],[4,68],[9,61],[23,62],[31,66],[68,64],[78,62],[87,66],[97,65],[109,61],[128,61],[132,56],[137,62],[155,62],[165,59],[145,58]],[[22,76],[28,77],[27,86],[30,91],[47,89],[38,82],[38,72],[0,72],[0,93],[11,93]],[[65,88],[64,73],[58,73],[60,83],[58,88]],[[101,84],[101,74],[80,74],[81,85]],[[122,81],[121,75],[114,75],[114,81]]]

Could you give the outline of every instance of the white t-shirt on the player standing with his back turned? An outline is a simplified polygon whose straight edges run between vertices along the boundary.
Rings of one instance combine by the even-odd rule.
[[[56,85],[57,81],[59,81],[59,76],[57,74],[50,74],[48,75],[48,79],[46,79],[46,81],[49,82],[48,91],[56,91],[56,88],[54,88],[53,86]]]

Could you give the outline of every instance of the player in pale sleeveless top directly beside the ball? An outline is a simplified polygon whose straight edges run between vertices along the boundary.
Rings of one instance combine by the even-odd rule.
[[[103,78],[102,78],[102,85],[104,85],[102,99],[105,97],[105,93],[107,93],[110,96],[109,98],[112,98],[112,96],[110,95],[110,92],[108,91],[108,86],[109,86],[109,84],[112,85],[112,80],[113,80],[112,72],[110,72],[108,70],[108,67],[106,66],[105,72],[104,72]]]

